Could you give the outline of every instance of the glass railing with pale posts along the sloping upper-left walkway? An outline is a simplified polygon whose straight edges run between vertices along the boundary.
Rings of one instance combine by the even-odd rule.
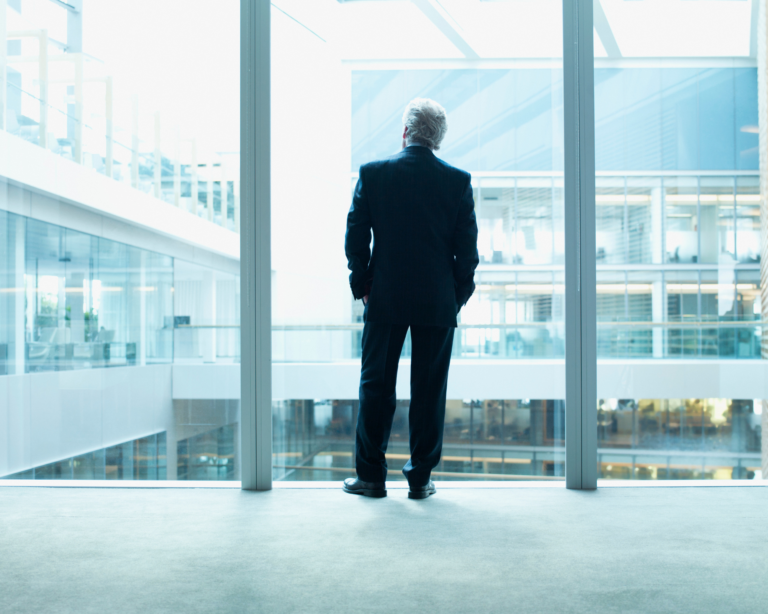
[[[135,97],[131,127],[119,126],[113,80],[100,62],[83,53],[49,53],[47,30],[7,33],[8,40],[25,38],[37,39],[39,51],[6,56],[12,73],[0,74],[8,92],[0,129],[239,233],[236,153],[198,160],[196,141],[182,139],[178,127],[164,141],[160,114],[140,115]],[[85,84],[103,85],[103,97],[86,100]]]

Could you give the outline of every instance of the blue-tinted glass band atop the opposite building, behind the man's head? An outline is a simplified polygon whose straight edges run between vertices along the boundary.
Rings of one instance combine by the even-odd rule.
[[[597,170],[756,170],[756,81],[752,68],[597,69]],[[562,169],[561,71],[500,69],[354,72],[353,170],[399,150],[416,96],[448,111],[451,164]]]

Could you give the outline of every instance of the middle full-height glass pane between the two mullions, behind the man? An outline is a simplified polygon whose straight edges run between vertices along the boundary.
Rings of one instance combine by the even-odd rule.
[[[477,53],[494,58],[478,68],[414,3],[317,4],[272,10],[274,478],[355,475],[367,316],[339,260],[349,209],[339,203],[349,203],[362,165],[401,151],[406,104],[426,97],[448,117],[435,155],[472,175],[480,259],[454,335],[432,475],[562,480],[564,389],[552,385],[564,366],[562,37],[549,27],[561,22],[560,5],[452,3],[456,23],[481,34]],[[389,26],[397,44],[381,35]],[[297,123],[309,91],[322,92],[313,113],[324,120]],[[376,233],[374,220],[373,249],[386,257]],[[388,479],[403,479],[410,457],[417,352],[409,332],[386,402]],[[480,361],[498,376],[478,377]],[[522,367],[527,381],[509,377]]]

